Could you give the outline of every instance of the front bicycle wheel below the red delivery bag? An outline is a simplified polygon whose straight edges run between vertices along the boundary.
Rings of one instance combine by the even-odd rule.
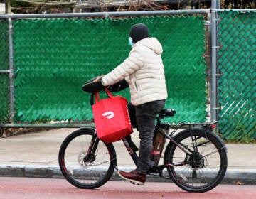
[[[60,146],[58,162],[65,179],[78,188],[94,189],[104,185],[116,166],[112,144],[99,141],[93,160],[84,161],[94,129],[79,129],[65,138]]]

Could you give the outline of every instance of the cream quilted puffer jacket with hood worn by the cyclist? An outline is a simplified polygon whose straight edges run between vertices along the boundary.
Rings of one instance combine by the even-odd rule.
[[[113,85],[119,80],[129,82],[134,106],[166,99],[166,80],[161,59],[163,48],[156,38],[144,38],[134,44],[129,57],[102,78],[102,83]]]

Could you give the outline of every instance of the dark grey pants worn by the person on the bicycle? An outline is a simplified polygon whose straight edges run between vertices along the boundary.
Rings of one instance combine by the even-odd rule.
[[[153,146],[156,115],[164,108],[165,100],[148,102],[139,106],[128,104],[129,116],[133,127],[139,131],[139,160],[137,171],[146,174],[151,165],[151,151]]]

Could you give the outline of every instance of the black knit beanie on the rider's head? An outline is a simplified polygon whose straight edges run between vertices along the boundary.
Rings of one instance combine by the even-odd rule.
[[[137,43],[137,41],[149,37],[149,29],[143,23],[135,24],[132,26],[129,36],[132,38],[133,43]]]

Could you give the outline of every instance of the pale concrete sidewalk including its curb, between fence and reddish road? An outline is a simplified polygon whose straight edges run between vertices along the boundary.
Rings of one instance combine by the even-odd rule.
[[[62,178],[58,150],[72,131],[75,129],[50,129],[0,138],[0,176]],[[139,146],[138,134],[135,132],[132,137]],[[114,147],[117,166],[127,170],[134,168],[122,141],[115,142]],[[256,185],[256,144],[227,144],[227,147],[228,171],[223,183],[239,181]],[[119,176],[113,178],[118,180]]]

